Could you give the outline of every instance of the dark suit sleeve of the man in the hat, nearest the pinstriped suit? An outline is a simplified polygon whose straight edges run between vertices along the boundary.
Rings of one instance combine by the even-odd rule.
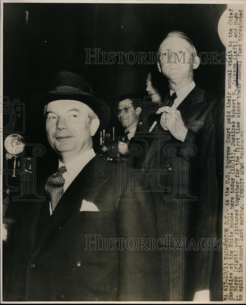
[[[133,182],[132,190],[139,186],[139,181]],[[118,301],[156,301],[160,292],[161,253],[154,250],[151,242],[157,238],[155,204],[151,193],[133,193],[142,200],[132,201],[130,194],[122,195],[116,217],[117,237],[129,241],[123,242],[122,250],[118,250]]]

